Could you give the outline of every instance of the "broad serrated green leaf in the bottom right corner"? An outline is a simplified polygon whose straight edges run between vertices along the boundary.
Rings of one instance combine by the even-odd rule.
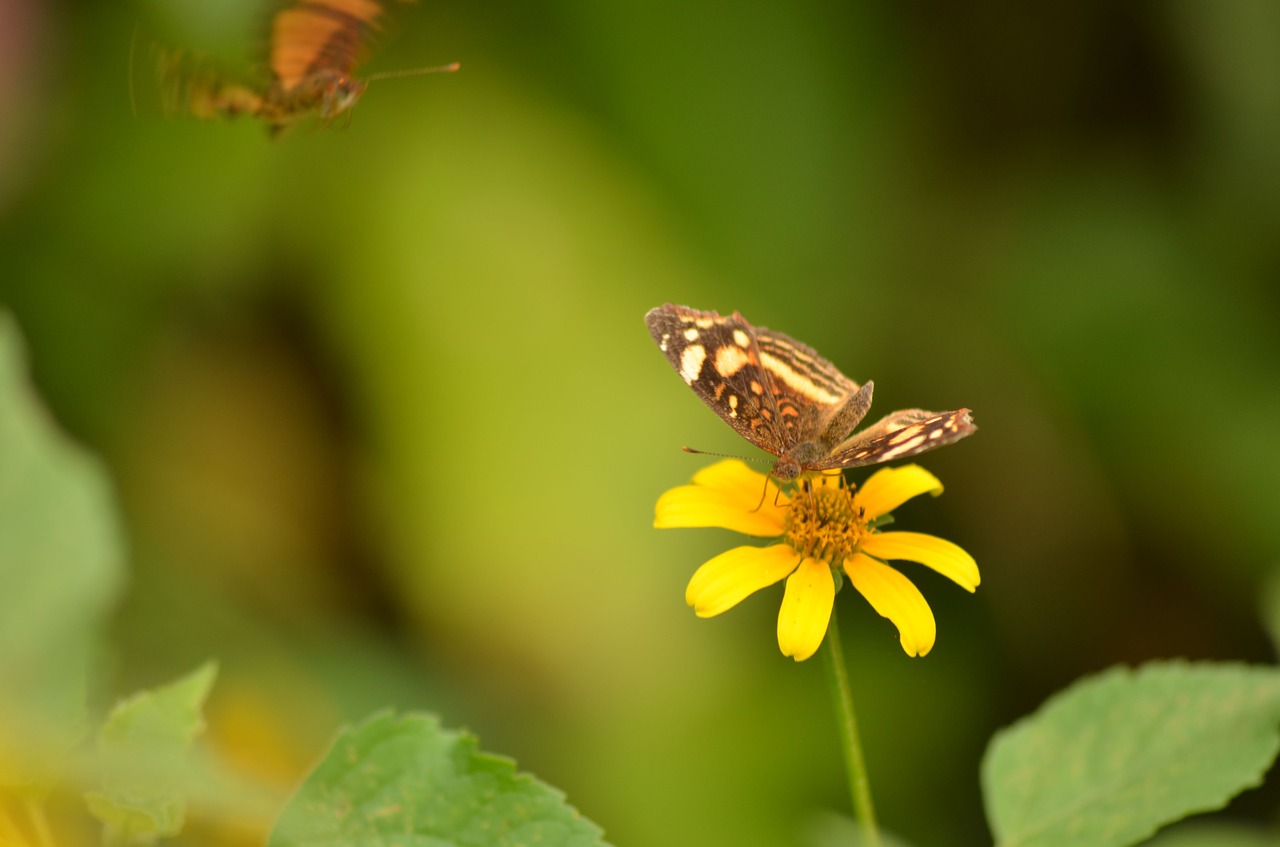
[[[1257,786],[1280,750],[1280,672],[1112,668],[1001,731],[982,768],[997,847],[1123,847]]]

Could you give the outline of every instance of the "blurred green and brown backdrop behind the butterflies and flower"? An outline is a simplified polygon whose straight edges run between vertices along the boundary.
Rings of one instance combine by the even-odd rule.
[[[906,569],[933,653],[838,600],[890,829],[989,843],[987,738],[1083,673],[1271,660],[1280,5],[389,5],[370,73],[462,70],[273,143],[131,109],[137,32],[250,51],[253,0],[0,0],[0,301],[131,540],[102,705],[216,658],[210,742],[280,802],[394,705],[616,844],[801,843],[845,810],[820,661],[781,589],[685,606],[733,536],[650,528],[681,445],[748,450],[668,301],[982,427],[897,514],[982,568]]]

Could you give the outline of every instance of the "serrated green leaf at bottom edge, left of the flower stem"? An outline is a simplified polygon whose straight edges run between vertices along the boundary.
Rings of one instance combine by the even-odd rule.
[[[268,847],[599,847],[602,830],[515,763],[430,715],[379,713],[338,736]]]

